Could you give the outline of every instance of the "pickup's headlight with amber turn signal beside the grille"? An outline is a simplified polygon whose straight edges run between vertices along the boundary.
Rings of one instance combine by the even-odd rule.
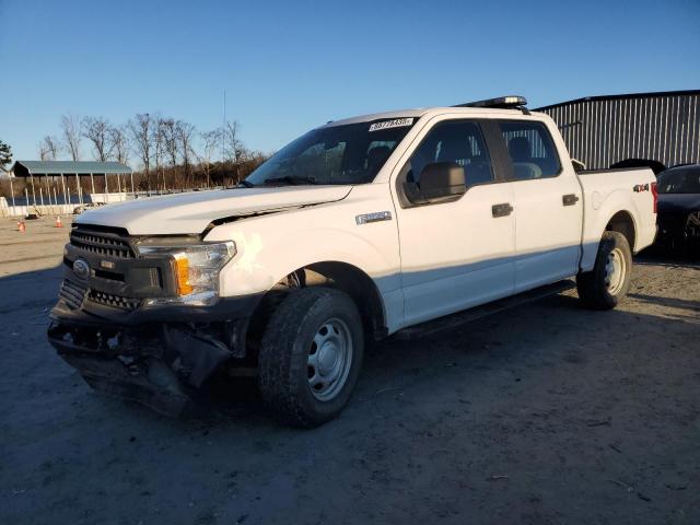
[[[175,279],[177,295],[148,299],[147,305],[206,306],[219,299],[219,271],[236,255],[236,245],[233,242],[179,246],[140,244],[138,250],[145,257],[170,257]]]

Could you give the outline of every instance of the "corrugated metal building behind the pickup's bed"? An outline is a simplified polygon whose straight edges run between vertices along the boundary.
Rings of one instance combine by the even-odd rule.
[[[590,96],[536,109],[590,170],[629,159],[700,163],[700,90]]]

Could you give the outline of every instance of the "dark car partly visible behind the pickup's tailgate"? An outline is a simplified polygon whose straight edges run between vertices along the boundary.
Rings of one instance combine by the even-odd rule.
[[[698,253],[700,248],[700,164],[658,174],[658,234],[662,247]]]

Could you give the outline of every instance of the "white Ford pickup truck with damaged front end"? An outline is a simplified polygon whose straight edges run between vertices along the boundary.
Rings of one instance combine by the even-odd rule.
[[[49,340],[96,389],[165,413],[247,373],[314,427],[350,399],[368,341],[571,277],[612,308],[654,240],[654,174],[576,173],[524,104],[331,121],[236,188],[86,211]]]

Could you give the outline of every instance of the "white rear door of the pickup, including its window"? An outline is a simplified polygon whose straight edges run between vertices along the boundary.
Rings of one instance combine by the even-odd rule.
[[[503,119],[498,126],[514,183],[515,291],[521,292],[578,272],[582,190],[545,122]]]

